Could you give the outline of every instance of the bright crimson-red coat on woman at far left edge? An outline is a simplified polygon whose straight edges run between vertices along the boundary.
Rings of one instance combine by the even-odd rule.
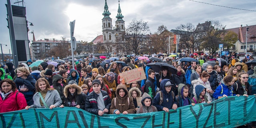
[[[22,110],[25,109],[27,106],[26,99],[22,93],[20,93],[18,90],[15,92],[11,92],[6,96],[6,98],[2,98],[2,94],[4,92],[0,92],[1,98],[0,98],[0,113],[2,112],[12,112],[16,110]],[[18,94],[17,94],[18,93]],[[17,94],[17,96],[16,96]]]

